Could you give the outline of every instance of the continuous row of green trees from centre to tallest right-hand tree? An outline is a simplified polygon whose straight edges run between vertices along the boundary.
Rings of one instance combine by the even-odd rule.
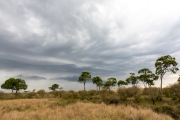
[[[88,80],[92,80],[93,84],[96,84],[97,90],[100,87],[107,88],[110,91],[111,87],[114,87],[116,85],[123,86],[123,85],[129,85],[137,86],[139,82],[142,82],[144,85],[144,88],[151,87],[154,85],[154,81],[158,80],[160,78],[161,80],[161,86],[159,89],[159,95],[160,98],[162,98],[162,80],[164,75],[167,72],[176,73],[179,69],[177,68],[177,62],[174,57],[171,57],[170,55],[165,55],[159,57],[155,62],[155,68],[156,71],[153,73],[148,68],[142,68],[138,71],[138,76],[135,75],[135,73],[130,73],[130,76],[126,78],[126,80],[116,80],[114,77],[110,77],[107,79],[106,82],[103,82],[101,77],[96,76],[91,78],[90,72],[82,72],[79,76],[78,82],[83,83],[84,85],[84,91],[85,84]]]

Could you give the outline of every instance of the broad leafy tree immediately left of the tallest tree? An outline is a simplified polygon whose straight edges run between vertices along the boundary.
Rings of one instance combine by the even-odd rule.
[[[152,71],[148,68],[140,69],[138,74],[140,74],[139,79],[143,82],[145,88],[147,88],[147,86],[150,87],[151,85],[154,85],[154,80],[158,79],[158,76],[152,73]]]

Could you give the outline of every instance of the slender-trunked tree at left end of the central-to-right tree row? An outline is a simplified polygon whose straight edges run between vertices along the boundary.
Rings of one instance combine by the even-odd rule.
[[[85,84],[87,80],[91,80],[91,74],[90,72],[82,72],[81,75],[79,76],[78,82],[84,84],[84,91],[85,89]]]

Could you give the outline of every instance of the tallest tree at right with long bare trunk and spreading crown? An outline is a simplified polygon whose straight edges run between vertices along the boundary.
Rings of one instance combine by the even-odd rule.
[[[155,62],[156,74],[159,75],[161,80],[161,85],[160,85],[161,99],[162,99],[162,79],[166,74],[166,72],[172,72],[175,74],[179,70],[176,67],[177,64],[178,63],[176,62],[176,59],[174,57],[171,57],[170,55],[161,56]]]

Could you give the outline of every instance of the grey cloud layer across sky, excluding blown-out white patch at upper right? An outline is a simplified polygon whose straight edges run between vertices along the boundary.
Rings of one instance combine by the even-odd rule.
[[[52,73],[56,78],[51,80],[68,81],[82,71],[120,77],[144,67],[154,70],[157,57],[178,52],[180,22],[134,30],[126,14],[108,4],[101,0],[0,1],[0,70]],[[34,74],[29,77],[41,79]]]

